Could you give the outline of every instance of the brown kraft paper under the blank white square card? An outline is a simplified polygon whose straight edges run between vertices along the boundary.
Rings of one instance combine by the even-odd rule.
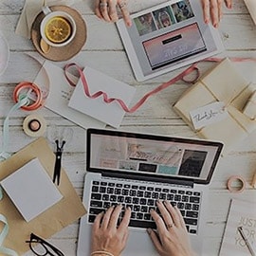
[[[0,163],[0,180],[14,173],[35,157],[38,157],[46,172],[52,177],[55,155],[48,146],[46,138],[40,137]],[[22,186],[20,184],[21,190]],[[28,244],[25,241],[29,240],[31,232],[42,238],[49,238],[86,213],[81,198],[74,190],[63,168],[58,189],[62,193],[63,198],[29,222],[23,218],[9,199],[7,193],[3,190],[4,196],[0,201],[0,213],[6,216],[9,223],[9,233],[3,246],[14,249],[18,254],[23,254],[29,250]]]

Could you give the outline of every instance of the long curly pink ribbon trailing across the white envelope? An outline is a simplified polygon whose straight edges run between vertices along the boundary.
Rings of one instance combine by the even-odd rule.
[[[254,58],[238,58],[238,57],[235,57],[235,58],[229,58],[229,60],[233,61],[233,62],[245,62],[245,61],[252,61],[252,62],[256,62],[256,59]],[[220,63],[221,61],[223,61],[222,58],[207,58],[201,62],[214,62],[214,63]],[[91,94],[90,91],[89,91],[89,86],[88,86],[88,83],[86,81],[86,78],[82,72],[82,68],[78,65],[78,64],[66,64],[64,66],[64,76],[65,76],[65,79],[67,80],[67,82],[69,82],[70,85],[72,86],[76,86],[76,84],[74,82],[72,82],[69,78],[68,78],[68,73],[67,73],[67,70],[71,67],[71,66],[74,66],[77,71],[79,72],[79,75],[80,75],[80,78],[82,80],[82,86],[83,86],[83,91],[84,91],[84,94],[85,96],[87,96],[88,98],[90,99],[96,99],[98,97],[101,97],[103,98],[103,101],[106,102],[106,103],[111,103],[113,101],[117,101],[120,105],[120,107],[127,113],[134,113],[135,111],[137,111],[137,109],[145,102],[148,100],[149,97],[155,95],[156,93],[158,93],[159,91],[167,88],[168,86],[174,84],[175,82],[178,82],[180,80],[182,80],[183,82],[186,82],[186,83],[194,83],[198,80],[198,78],[200,77],[200,71],[197,67],[197,64],[199,64],[200,62],[197,62],[195,64],[192,64],[191,66],[189,66],[187,69],[185,69],[183,72],[181,72],[180,74],[178,74],[177,76],[175,76],[173,79],[171,79],[170,81],[168,82],[163,82],[162,84],[160,84],[159,86],[157,86],[154,90],[148,92],[147,94],[145,94],[139,101],[137,101],[137,103],[129,108],[125,103],[124,101],[120,100],[120,99],[117,99],[117,98],[109,98],[108,95],[103,92],[103,91],[98,91],[94,94]],[[196,75],[195,75],[195,78],[193,80],[187,80],[186,77],[188,75],[190,75],[192,72],[195,72]]]

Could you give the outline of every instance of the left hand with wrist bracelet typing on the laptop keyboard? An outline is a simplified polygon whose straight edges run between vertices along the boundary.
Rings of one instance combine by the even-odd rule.
[[[126,246],[131,210],[129,208],[125,210],[122,221],[117,227],[121,209],[121,205],[116,208],[111,207],[105,214],[101,212],[96,216],[92,229],[92,253],[106,251],[119,256]]]

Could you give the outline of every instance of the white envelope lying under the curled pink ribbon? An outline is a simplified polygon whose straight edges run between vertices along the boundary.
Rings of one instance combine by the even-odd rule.
[[[83,69],[83,74],[91,95],[102,91],[107,94],[108,99],[119,99],[126,106],[129,106],[136,92],[134,87],[127,83],[119,82],[88,66]],[[118,101],[106,103],[103,101],[102,95],[96,99],[87,97],[84,93],[81,79],[76,85],[68,106],[115,128],[119,128],[125,114]]]

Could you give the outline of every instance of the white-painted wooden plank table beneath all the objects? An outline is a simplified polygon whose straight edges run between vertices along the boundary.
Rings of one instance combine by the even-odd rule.
[[[161,82],[166,82],[180,72],[162,75],[147,82],[137,82],[128,63],[118,31],[113,24],[101,22],[93,12],[93,0],[83,0],[73,6],[82,13],[88,28],[88,39],[85,46],[70,62],[94,67],[120,81],[127,82],[137,88],[134,102],[137,102],[146,92],[152,90]],[[130,0],[132,11],[145,9],[163,0]],[[9,41],[10,58],[5,74],[0,78],[0,135],[2,137],[3,121],[13,105],[12,91],[18,82],[33,81],[40,66],[30,62],[26,53],[35,52],[31,42],[15,34],[24,0],[0,1],[0,29]],[[242,0],[233,0],[233,9],[225,9],[220,26],[226,52],[222,56],[256,57],[256,27],[253,24],[247,8]],[[221,57],[222,57],[221,56]],[[1,57],[1,56],[0,56]],[[58,63],[64,66],[68,62]],[[248,80],[256,82],[255,64],[237,64],[243,70]],[[254,65],[254,66],[253,66]],[[202,72],[213,64],[200,64]],[[177,82],[173,86],[158,93],[140,107],[136,113],[125,115],[120,130],[161,134],[178,137],[196,137],[192,130],[174,113],[172,105],[189,85]],[[74,188],[82,195],[82,180],[85,174],[85,130],[73,122],[54,114],[46,108],[37,111],[46,118],[47,125],[56,124],[59,127],[71,127],[74,130],[72,144],[66,147],[63,165]],[[29,113],[16,111],[10,123],[10,145],[12,153],[26,146],[34,138],[27,137],[22,130],[24,118]],[[1,171],[1,170],[0,170]],[[249,186],[252,175],[256,171],[256,132],[237,145],[229,155],[221,158],[217,170],[210,183],[210,209],[205,227],[204,255],[218,255],[222,236],[227,220],[230,198],[250,199],[256,202],[256,191]],[[232,174],[242,174],[247,180],[247,190],[240,194],[227,190],[227,180]],[[60,247],[64,255],[76,255],[79,222],[76,222],[51,239]],[[27,255],[32,255],[30,252]]]

